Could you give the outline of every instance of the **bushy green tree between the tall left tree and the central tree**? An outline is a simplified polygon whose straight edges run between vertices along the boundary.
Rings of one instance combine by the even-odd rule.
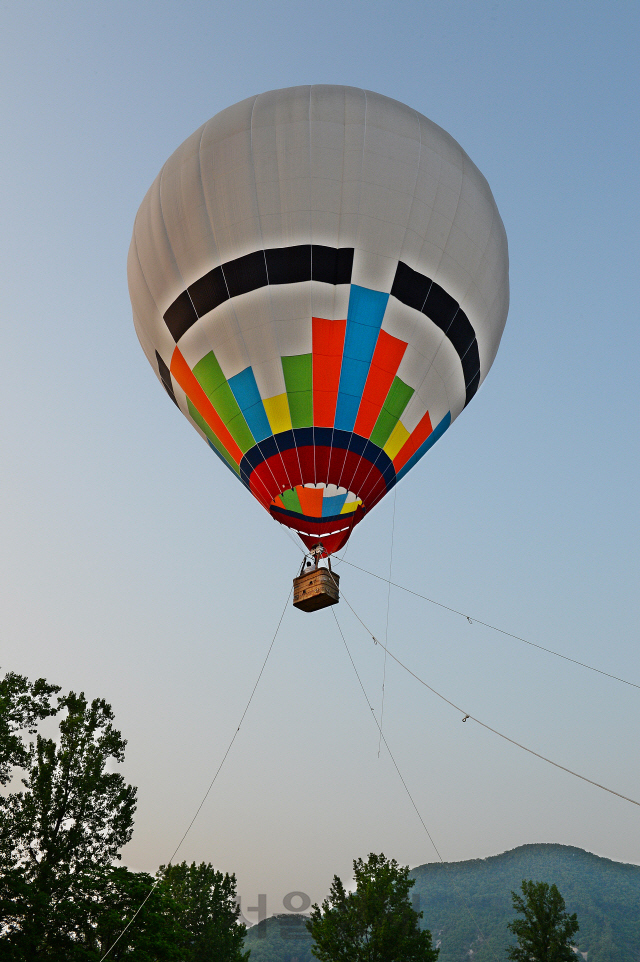
[[[162,865],[161,888],[175,905],[180,925],[187,933],[184,962],[245,962],[247,928],[238,921],[236,877],[202,862],[196,865]]]

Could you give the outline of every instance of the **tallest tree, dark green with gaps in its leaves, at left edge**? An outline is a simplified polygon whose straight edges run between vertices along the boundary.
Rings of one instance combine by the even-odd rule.
[[[23,790],[0,798],[0,932],[15,959],[86,957],[89,880],[120,858],[133,829],[136,789],[108,770],[126,745],[111,707],[74,692],[53,707],[57,691],[13,674],[0,683],[0,774],[8,783],[23,770]],[[58,742],[33,727],[51,715]]]

